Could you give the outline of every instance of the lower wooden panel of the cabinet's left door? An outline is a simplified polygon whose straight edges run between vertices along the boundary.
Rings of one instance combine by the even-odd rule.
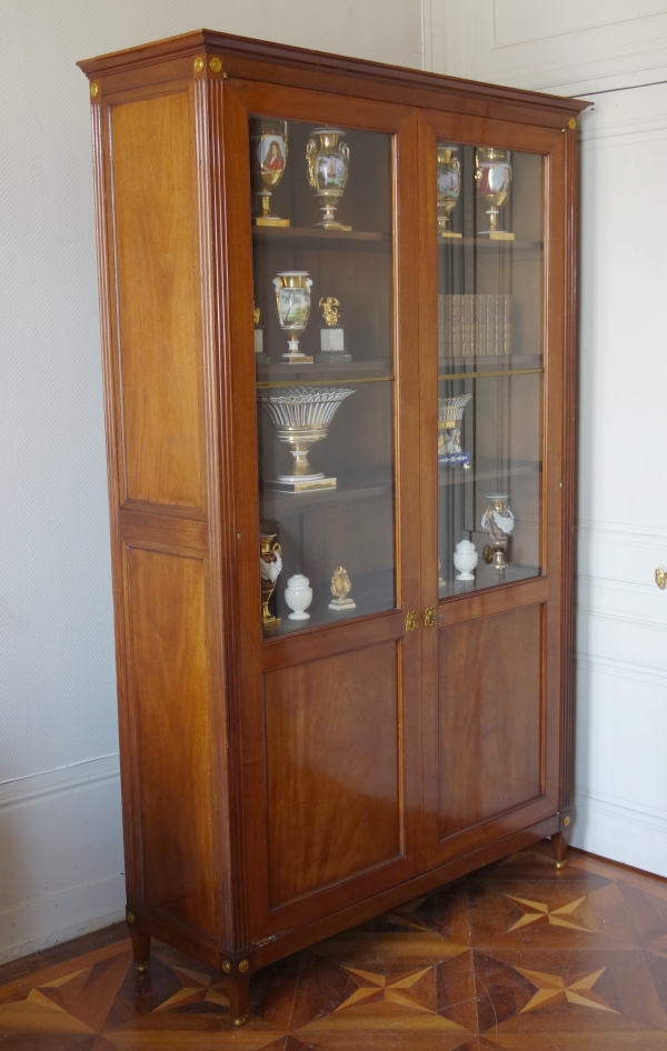
[[[395,642],[265,677],[269,901],[401,854]]]

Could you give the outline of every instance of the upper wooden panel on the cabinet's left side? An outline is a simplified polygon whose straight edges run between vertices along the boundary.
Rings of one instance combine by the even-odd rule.
[[[187,91],[111,107],[121,498],[202,508],[197,167]]]

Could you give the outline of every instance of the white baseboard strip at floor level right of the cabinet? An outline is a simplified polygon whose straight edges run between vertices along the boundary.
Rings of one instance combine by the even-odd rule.
[[[667,877],[667,818],[576,795],[573,847]]]

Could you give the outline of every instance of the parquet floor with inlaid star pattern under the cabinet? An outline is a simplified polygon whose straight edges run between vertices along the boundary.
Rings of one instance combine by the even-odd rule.
[[[0,1049],[667,1051],[667,881],[542,844],[259,971],[242,1029],[220,973],[158,943],[139,975],[122,933],[0,971]]]

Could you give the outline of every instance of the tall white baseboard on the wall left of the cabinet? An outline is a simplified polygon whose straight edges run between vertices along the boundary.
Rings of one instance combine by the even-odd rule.
[[[125,914],[118,757],[0,784],[0,961]]]

